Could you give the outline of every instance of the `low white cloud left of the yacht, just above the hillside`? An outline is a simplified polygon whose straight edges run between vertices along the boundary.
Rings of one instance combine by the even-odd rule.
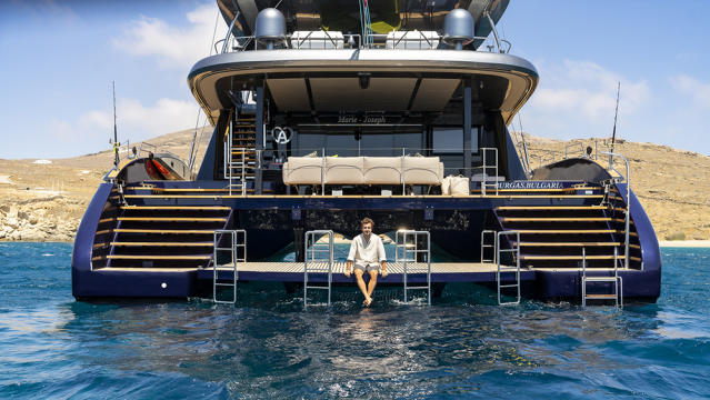
[[[194,126],[196,106],[188,101],[160,99],[152,106],[143,106],[134,99],[119,99],[117,103],[119,141],[150,139],[160,134]],[[48,130],[63,143],[81,144],[81,148],[106,149],[113,138],[112,110],[92,110],[76,121],[53,119]]]

